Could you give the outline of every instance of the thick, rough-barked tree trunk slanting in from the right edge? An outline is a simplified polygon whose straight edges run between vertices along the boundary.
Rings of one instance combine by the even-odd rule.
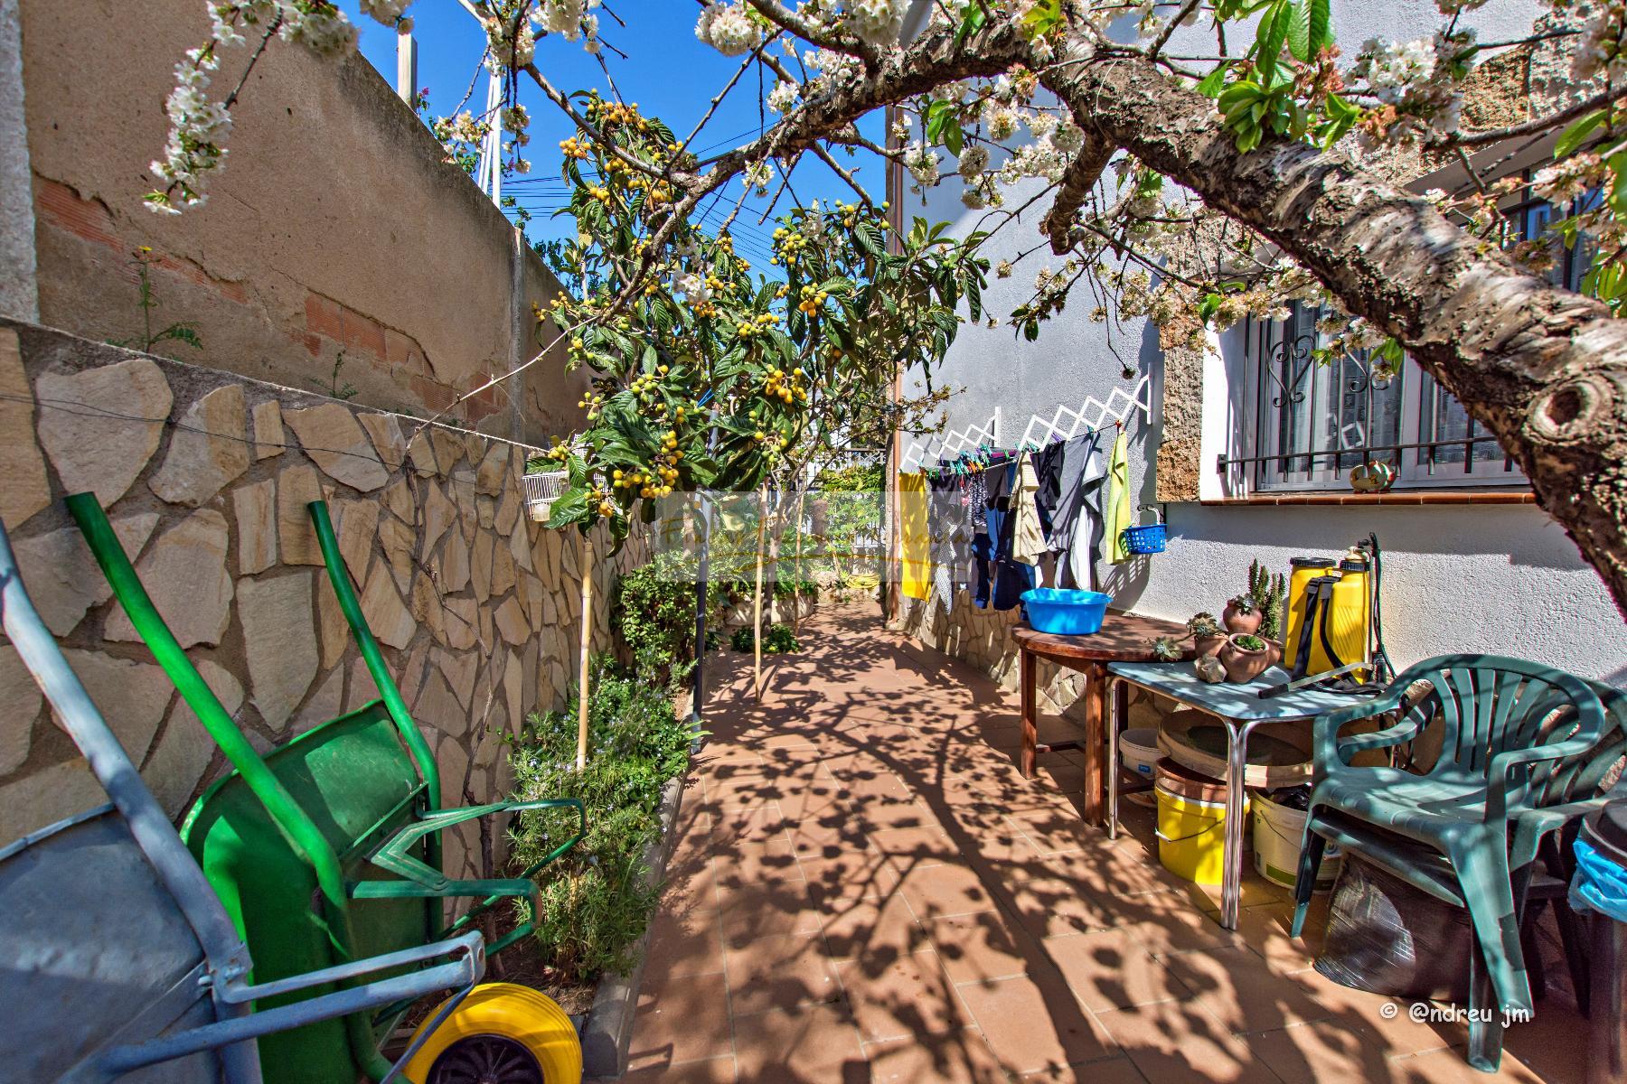
[[[1524,470],[1627,614],[1627,322],[1551,286],[1342,154],[1238,153],[1214,104],[1139,57],[1053,68],[1079,124],[1253,226],[1389,330]]]

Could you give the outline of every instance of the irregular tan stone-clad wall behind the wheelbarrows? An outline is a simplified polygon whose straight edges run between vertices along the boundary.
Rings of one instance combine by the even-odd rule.
[[[581,536],[526,515],[529,449],[446,427],[410,437],[417,424],[0,322],[0,518],[41,616],[172,816],[225,757],[111,600],[70,492],[98,494],[159,613],[260,748],[377,694],[321,567],[304,507],[316,497],[434,748],[444,804],[499,796],[496,731],[563,705]],[[644,556],[635,538],[599,559],[600,650],[615,575]],[[0,702],[0,843],[106,801],[8,645]],[[449,871],[469,873],[462,853]]]

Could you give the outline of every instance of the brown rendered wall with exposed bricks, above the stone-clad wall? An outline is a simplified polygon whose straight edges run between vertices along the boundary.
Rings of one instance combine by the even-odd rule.
[[[195,0],[21,0],[42,323],[138,335],[130,257],[151,245],[156,325],[194,322],[203,341],[163,353],[189,362],[316,390],[343,349],[358,403],[428,416],[535,354],[530,307],[555,280],[360,54],[273,42],[208,203],[145,210],[174,63],[207,37]],[[226,55],[216,88],[246,57]],[[556,353],[454,418],[545,444],[581,423],[584,385]]]

